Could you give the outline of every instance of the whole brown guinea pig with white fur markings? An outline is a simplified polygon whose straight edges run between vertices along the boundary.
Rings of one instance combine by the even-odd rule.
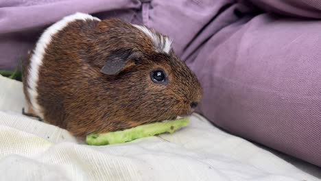
[[[82,13],[43,32],[23,63],[23,90],[28,113],[75,136],[185,117],[202,97],[167,36]]]

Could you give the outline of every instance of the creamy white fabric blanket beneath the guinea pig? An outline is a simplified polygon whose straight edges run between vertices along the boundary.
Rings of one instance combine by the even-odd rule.
[[[198,114],[174,134],[89,146],[21,115],[22,84],[0,76],[0,180],[318,180]]]

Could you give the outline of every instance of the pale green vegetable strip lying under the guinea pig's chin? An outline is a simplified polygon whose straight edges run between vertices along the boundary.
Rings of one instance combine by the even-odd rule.
[[[116,143],[125,143],[137,138],[154,136],[165,132],[173,133],[178,128],[189,125],[189,119],[176,119],[174,121],[163,121],[139,125],[128,130],[108,133],[91,133],[86,136],[88,145],[110,145]]]

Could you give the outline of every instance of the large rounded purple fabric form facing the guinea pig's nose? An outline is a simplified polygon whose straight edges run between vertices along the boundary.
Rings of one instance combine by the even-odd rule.
[[[261,14],[233,23],[189,66],[215,125],[321,166],[321,23]]]

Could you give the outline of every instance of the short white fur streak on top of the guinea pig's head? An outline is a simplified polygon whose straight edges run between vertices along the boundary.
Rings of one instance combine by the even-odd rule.
[[[149,36],[152,39],[152,42],[154,43],[154,46],[156,49],[160,49],[161,51],[164,51],[165,53],[169,53],[171,50],[171,39],[169,39],[167,36],[157,36],[155,32],[152,32],[150,29],[148,29],[145,26],[140,25],[134,25],[134,27],[138,28],[142,32],[144,32],[147,36]]]

